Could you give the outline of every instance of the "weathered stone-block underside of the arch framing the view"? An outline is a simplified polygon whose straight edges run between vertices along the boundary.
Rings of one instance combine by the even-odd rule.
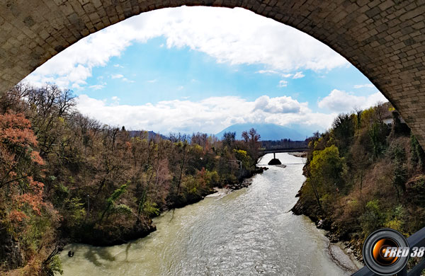
[[[380,89],[425,147],[425,0],[3,0],[0,90],[90,33],[182,5],[247,8],[324,42]]]

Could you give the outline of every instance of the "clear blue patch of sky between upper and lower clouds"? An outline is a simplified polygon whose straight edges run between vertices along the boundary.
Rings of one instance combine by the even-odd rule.
[[[118,96],[120,104],[125,105],[188,98],[202,100],[212,96],[255,100],[261,95],[285,95],[300,102],[316,103],[334,88],[355,91],[356,96],[376,92],[373,87],[354,88],[369,81],[351,64],[324,72],[301,71],[305,76],[299,79],[283,78],[280,74],[259,73],[266,70],[263,64],[217,63],[203,52],[188,47],[168,49],[164,43],[165,38],[161,37],[131,45],[120,57],[112,57],[106,67],[93,69],[93,76],[87,79],[87,83],[95,87],[75,92],[77,95],[86,93],[98,100]],[[281,80],[288,81],[286,86],[279,86]],[[107,85],[98,89],[96,85],[105,82]],[[310,108],[323,110],[317,104]]]

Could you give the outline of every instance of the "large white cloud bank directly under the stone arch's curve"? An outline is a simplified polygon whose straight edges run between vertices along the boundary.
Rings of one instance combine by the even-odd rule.
[[[166,38],[169,48],[189,47],[215,57],[217,62],[265,64],[284,74],[348,64],[309,35],[243,8],[183,6],[142,13],[89,35],[42,64],[26,81],[81,88],[94,67],[106,66],[111,57],[120,56],[134,42],[159,36]]]

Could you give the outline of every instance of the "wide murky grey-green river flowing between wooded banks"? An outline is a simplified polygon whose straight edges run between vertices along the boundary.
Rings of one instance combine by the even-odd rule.
[[[305,159],[276,157],[286,168],[270,166],[249,188],[165,212],[145,238],[121,246],[66,246],[64,275],[350,275],[329,257],[324,231],[290,212],[305,180]]]

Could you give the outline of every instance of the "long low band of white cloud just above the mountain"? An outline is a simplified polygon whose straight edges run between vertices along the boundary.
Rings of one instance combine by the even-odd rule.
[[[121,105],[96,100],[86,95],[77,98],[77,108],[108,125],[125,125],[130,130],[216,133],[229,125],[267,122],[278,125],[301,124],[325,130],[336,113],[312,113],[307,103],[288,97],[261,96],[248,101],[234,96],[212,97],[199,101],[166,100],[156,104]]]

